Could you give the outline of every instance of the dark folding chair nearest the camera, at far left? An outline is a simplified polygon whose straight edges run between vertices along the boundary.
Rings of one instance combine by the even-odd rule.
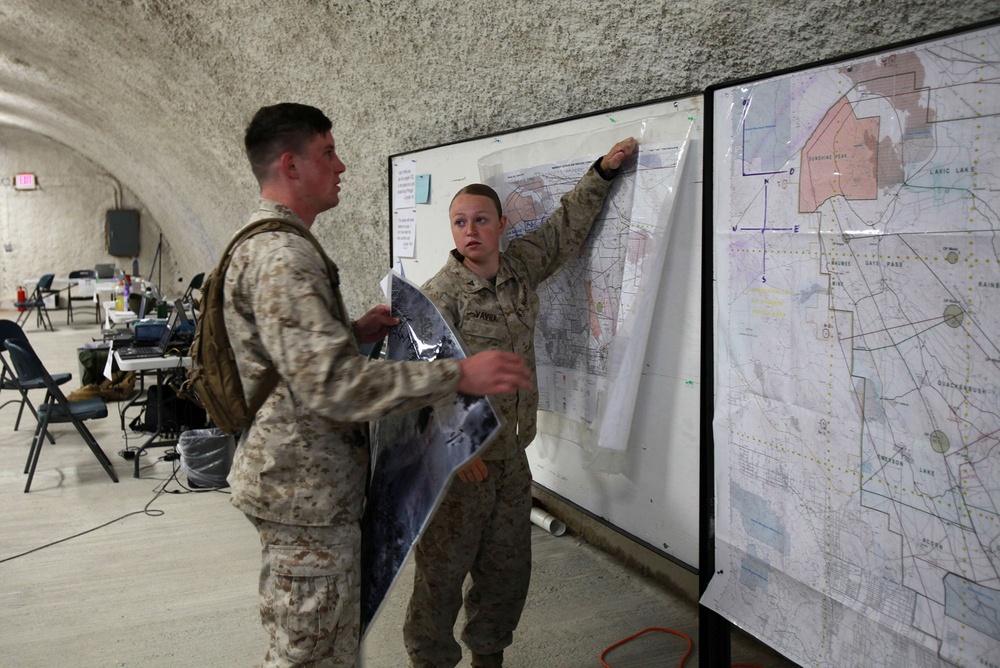
[[[10,354],[11,362],[17,371],[18,378],[41,378],[45,384],[45,402],[38,407],[38,426],[35,428],[35,435],[31,439],[31,450],[28,452],[28,461],[24,465],[24,472],[28,474],[28,481],[24,485],[24,491],[31,489],[31,481],[35,477],[35,468],[38,466],[38,456],[42,452],[42,435],[47,433],[50,424],[71,423],[83,437],[84,442],[90,451],[97,457],[105,472],[111,480],[118,482],[118,475],[115,467],[108,459],[108,456],[101,449],[100,444],[94,435],[84,424],[87,420],[99,420],[108,416],[108,407],[103,399],[83,399],[80,401],[70,401],[59,389],[59,385],[52,379],[45,365],[38,359],[38,355],[32,350],[25,339],[8,339],[7,352]]]

